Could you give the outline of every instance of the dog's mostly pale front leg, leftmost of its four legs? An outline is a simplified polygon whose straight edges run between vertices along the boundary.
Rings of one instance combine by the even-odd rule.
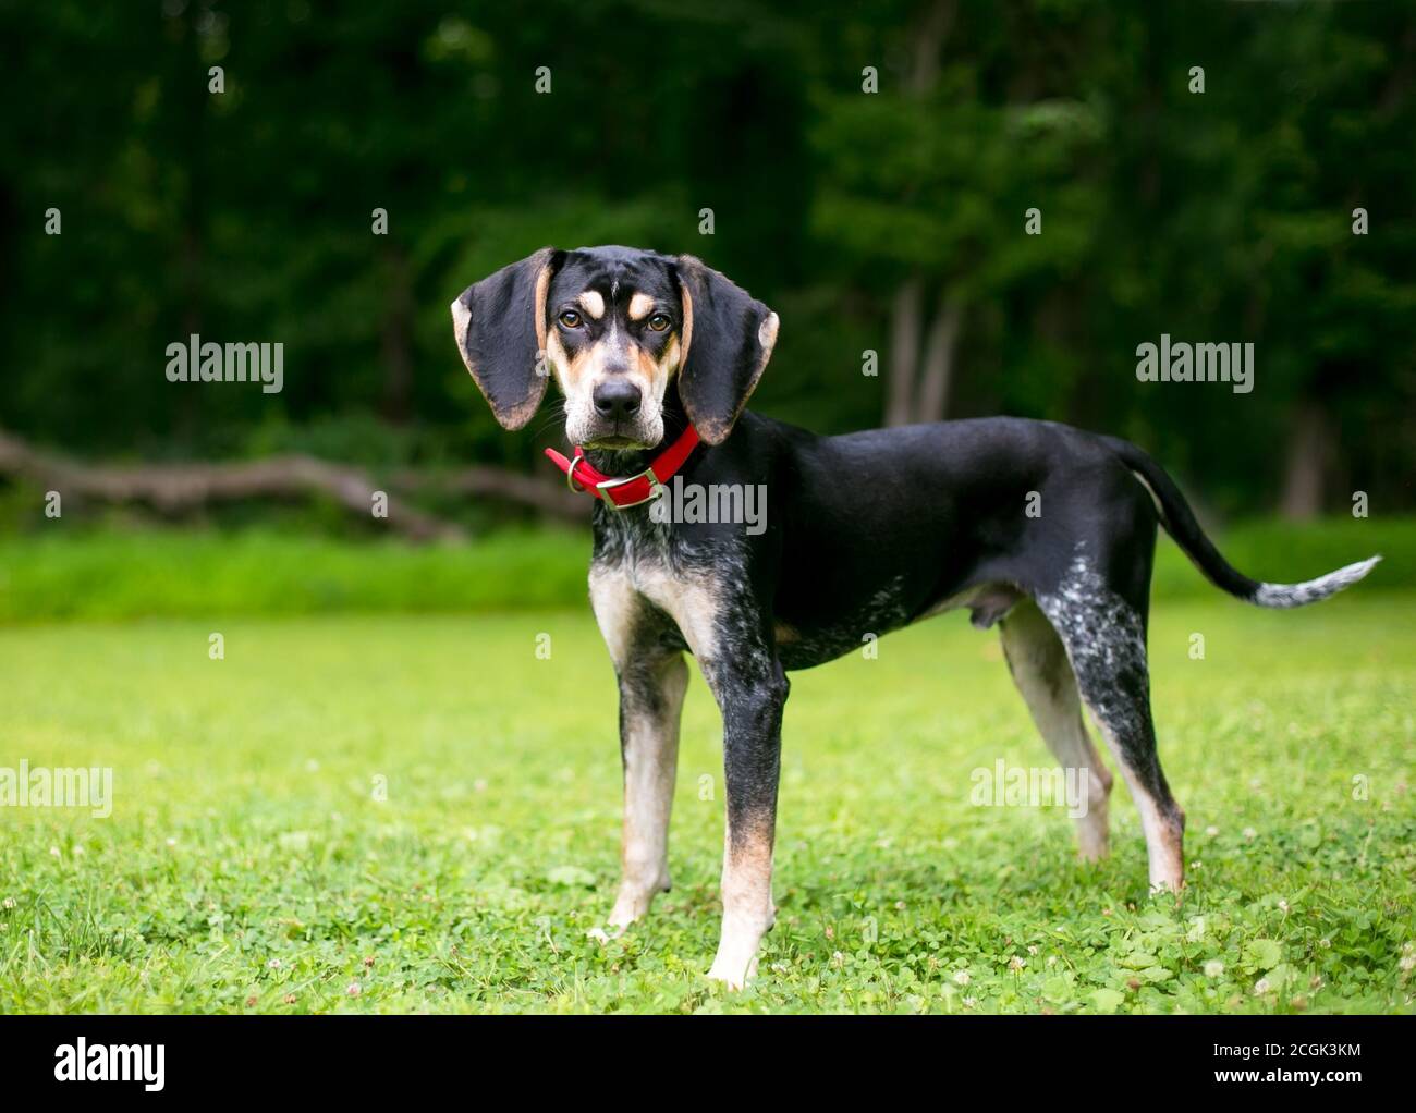
[[[670,886],[668,814],[687,687],[688,666],[681,653],[632,658],[619,670],[624,830],[612,928],[637,920]]]

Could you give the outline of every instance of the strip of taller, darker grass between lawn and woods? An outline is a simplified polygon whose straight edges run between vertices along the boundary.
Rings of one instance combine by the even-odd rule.
[[[1257,521],[1218,537],[1243,572],[1307,579],[1381,552],[1372,583],[1416,589],[1416,518]],[[582,606],[586,531],[496,532],[467,545],[351,542],[270,530],[0,537],[0,623],[200,615],[447,613]],[[1167,538],[1155,599],[1214,589]]]

